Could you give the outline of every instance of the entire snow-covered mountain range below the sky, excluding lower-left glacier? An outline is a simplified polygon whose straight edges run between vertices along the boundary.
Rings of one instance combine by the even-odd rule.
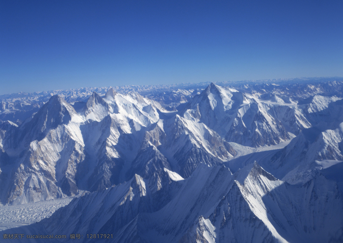
[[[0,101],[1,204],[76,196],[4,234],[343,241],[343,78],[82,88]]]

